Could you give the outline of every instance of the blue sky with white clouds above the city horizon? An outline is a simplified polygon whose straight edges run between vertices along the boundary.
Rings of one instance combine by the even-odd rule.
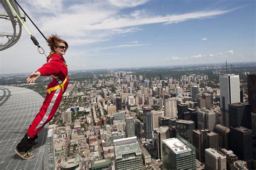
[[[18,2],[45,35],[68,41],[71,70],[256,61],[255,1]],[[10,32],[10,22],[0,24]],[[35,27],[25,24],[49,53]],[[24,29],[0,53],[1,73],[33,72],[45,62]]]

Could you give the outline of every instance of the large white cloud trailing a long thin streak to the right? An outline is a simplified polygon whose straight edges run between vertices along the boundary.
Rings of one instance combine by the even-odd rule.
[[[65,5],[66,2],[63,0],[29,0],[22,2],[22,5],[46,35],[57,33],[73,45],[103,42],[118,34],[142,31],[138,28],[140,25],[179,23],[189,19],[223,15],[235,10],[197,11],[181,15],[156,15],[146,10],[136,10],[123,14],[124,8],[132,8],[147,2],[149,1],[79,1]]]

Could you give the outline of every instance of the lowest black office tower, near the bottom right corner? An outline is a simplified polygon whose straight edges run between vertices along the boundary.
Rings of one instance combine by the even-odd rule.
[[[242,126],[230,127],[230,150],[239,159],[245,160],[250,168],[250,161],[253,159],[252,130]]]

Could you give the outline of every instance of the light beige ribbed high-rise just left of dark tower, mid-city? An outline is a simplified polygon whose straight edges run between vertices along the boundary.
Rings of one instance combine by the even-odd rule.
[[[166,117],[177,117],[177,102],[174,98],[165,100],[164,115]]]

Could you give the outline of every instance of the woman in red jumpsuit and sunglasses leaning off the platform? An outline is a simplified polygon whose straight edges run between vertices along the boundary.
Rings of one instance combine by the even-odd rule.
[[[35,82],[39,76],[50,75],[53,75],[53,80],[48,84],[46,97],[40,111],[15,149],[15,152],[23,159],[34,157],[34,154],[29,150],[32,146],[36,145],[37,133],[52,119],[69,83],[68,67],[63,58],[66,49],[68,49],[68,43],[60,39],[57,35],[50,36],[47,42],[51,49],[47,62],[37,72],[30,74],[26,81],[31,83]]]

